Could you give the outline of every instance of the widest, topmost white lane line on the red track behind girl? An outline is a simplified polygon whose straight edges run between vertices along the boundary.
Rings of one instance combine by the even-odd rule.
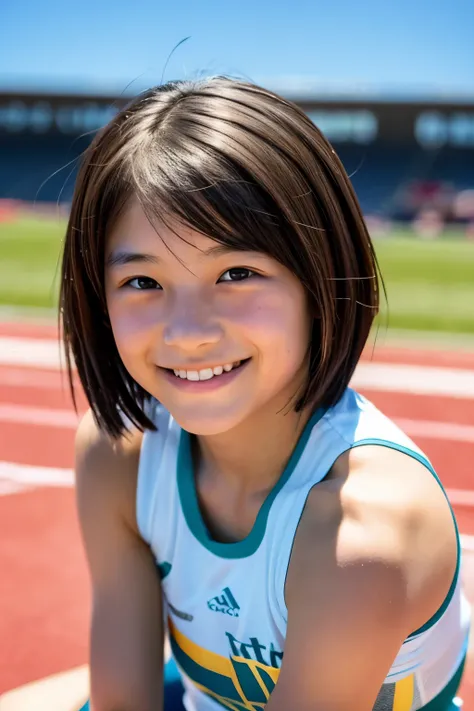
[[[57,341],[0,337],[0,365],[57,371],[65,359]],[[357,388],[474,399],[474,370],[362,362],[352,384]]]

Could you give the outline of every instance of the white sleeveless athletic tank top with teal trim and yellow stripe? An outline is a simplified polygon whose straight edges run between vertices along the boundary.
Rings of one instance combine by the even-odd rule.
[[[285,578],[312,487],[344,451],[365,444],[405,452],[439,479],[393,422],[347,389],[335,407],[308,422],[249,535],[219,543],[210,538],[199,510],[189,434],[158,404],[152,419],[158,429],[143,439],[137,521],[162,579],[164,615],[186,709],[262,709],[279,675],[287,625]],[[458,535],[458,565],[447,598],[403,643],[376,711],[421,708],[462,663],[470,609],[461,591],[460,551]]]

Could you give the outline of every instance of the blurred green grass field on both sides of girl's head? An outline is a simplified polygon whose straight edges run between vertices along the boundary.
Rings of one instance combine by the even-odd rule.
[[[0,223],[0,304],[54,309],[64,222]],[[375,240],[391,329],[474,334],[474,242],[455,233],[419,240],[394,232]]]

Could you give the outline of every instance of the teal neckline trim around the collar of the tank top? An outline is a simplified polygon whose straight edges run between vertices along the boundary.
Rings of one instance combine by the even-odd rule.
[[[325,412],[326,409],[320,408],[310,417],[281,477],[260,507],[252,530],[246,538],[233,543],[221,543],[213,540],[209,535],[202,518],[197,498],[191,454],[191,435],[189,432],[181,430],[177,463],[178,491],[181,508],[191,533],[205,548],[220,558],[246,558],[255,553],[265,535],[270,508],[278,492],[288,481],[298,464],[314,426],[323,417]]]

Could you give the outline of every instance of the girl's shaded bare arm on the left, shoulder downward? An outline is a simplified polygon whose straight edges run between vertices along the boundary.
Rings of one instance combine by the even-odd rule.
[[[76,438],[79,520],[92,583],[94,711],[162,708],[161,586],[136,527],[140,433],[112,443],[91,414]]]

